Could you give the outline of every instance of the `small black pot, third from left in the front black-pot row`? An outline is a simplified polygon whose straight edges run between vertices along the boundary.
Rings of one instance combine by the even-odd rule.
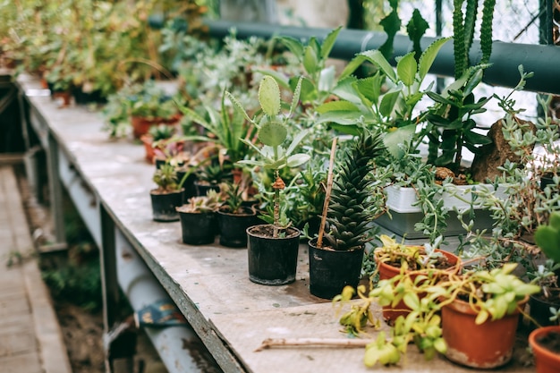
[[[232,214],[223,209],[218,210],[220,245],[229,248],[247,247],[247,228],[258,222],[257,213],[251,208],[244,208],[242,214]]]

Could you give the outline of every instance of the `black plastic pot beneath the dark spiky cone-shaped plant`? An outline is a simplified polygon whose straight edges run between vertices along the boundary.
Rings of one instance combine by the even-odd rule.
[[[310,292],[319,298],[333,299],[344,286],[360,283],[364,247],[352,251],[319,249],[317,239],[308,242],[310,252]]]

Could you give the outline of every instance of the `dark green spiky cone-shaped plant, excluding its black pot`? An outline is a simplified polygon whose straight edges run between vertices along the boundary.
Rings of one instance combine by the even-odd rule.
[[[354,250],[369,241],[366,232],[374,216],[368,186],[373,159],[384,148],[380,132],[363,131],[346,149],[343,164],[333,181],[327,221],[330,233],[325,236],[335,250]]]

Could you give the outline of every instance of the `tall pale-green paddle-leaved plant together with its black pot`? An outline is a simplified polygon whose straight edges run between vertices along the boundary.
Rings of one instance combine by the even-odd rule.
[[[253,225],[247,229],[249,278],[256,284],[280,285],[295,280],[300,230],[289,225],[280,225],[280,192],[285,188],[280,170],[300,166],[310,158],[302,153],[292,154],[305,138],[307,131],[293,134],[292,142],[286,148],[283,146],[290,134],[288,123],[298,105],[300,89],[301,79],[295,89],[289,112],[281,115],[280,88],[274,78],[265,75],[259,84],[259,105],[262,113],[255,118],[250,118],[239,101],[226,92],[233,105],[242,110],[245,119],[258,129],[258,140],[262,144],[259,148],[249,140],[243,139],[260,159],[244,159],[240,163],[258,166],[274,173],[274,182],[271,185],[274,191],[274,222]]]

